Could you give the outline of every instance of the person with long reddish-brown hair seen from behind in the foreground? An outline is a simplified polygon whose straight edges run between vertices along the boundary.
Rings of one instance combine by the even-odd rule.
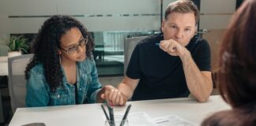
[[[232,106],[208,117],[203,126],[256,125],[256,0],[235,12],[220,46],[220,95]]]

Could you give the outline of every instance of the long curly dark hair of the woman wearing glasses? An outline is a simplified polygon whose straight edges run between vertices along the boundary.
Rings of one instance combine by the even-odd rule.
[[[29,78],[29,71],[38,64],[43,64],[44,76],[51,91],[62,85],[62,68],[59,61],[58,50],[60,50],[60,39],[66,31],[71,28],[78,28],[85,38],[88,36],[86,44],[86,56],[92,59],[94,42],[88,30],[78,20],[70,16],[56,15],[47,19],[40,28],[39,33],[32,43],[32,53],[34,57],[25,70],[26,80]]]

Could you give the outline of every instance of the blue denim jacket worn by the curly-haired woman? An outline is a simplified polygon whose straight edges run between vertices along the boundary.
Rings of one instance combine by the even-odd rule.
[[[62,72],[65,73],[62,69]],[[66,76],[63,76],[63,84],[51,89],[43,74],[43,65],[33,67],[29,72],[27,80],[26,106],[62,106],[74,105],[75,86],[68,83]],[[77,62],[77,96],[78,104],[95,103],[96,95],[100,91],[101,84],[98,80],[95,61],[86,58],[85,61]]]

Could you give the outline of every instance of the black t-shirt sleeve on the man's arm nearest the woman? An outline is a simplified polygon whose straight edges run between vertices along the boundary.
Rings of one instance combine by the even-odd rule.
[[[140,79],[140,59],[139,59],[139,45],[135,46],[133,54],[130,57],[129,64],[126,69],[126,76],[132,79]]]

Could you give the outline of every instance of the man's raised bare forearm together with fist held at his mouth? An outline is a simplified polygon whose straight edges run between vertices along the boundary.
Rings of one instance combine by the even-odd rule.
[[[171,56],[179,56],[183,62],[183,70],[186,77],[186,85],[190,93],[198,100],[205,102],[213,91],[213,80],[211,72],[200,71],[194,62],[190,51],[185,46],[174,39],[163,40],[160,42],[160,49]]]

